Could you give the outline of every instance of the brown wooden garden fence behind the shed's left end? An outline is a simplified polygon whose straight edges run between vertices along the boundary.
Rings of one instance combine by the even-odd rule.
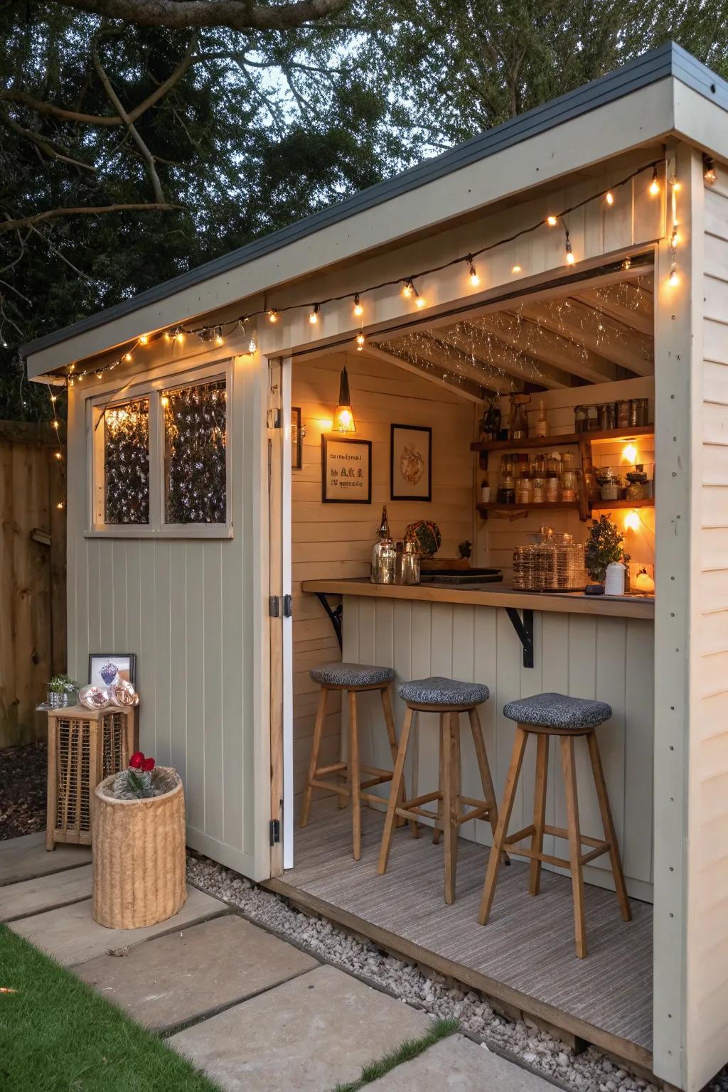
[[[65,483],[47,425],[0,420],[0,747],[43,739],[65,670]]]

